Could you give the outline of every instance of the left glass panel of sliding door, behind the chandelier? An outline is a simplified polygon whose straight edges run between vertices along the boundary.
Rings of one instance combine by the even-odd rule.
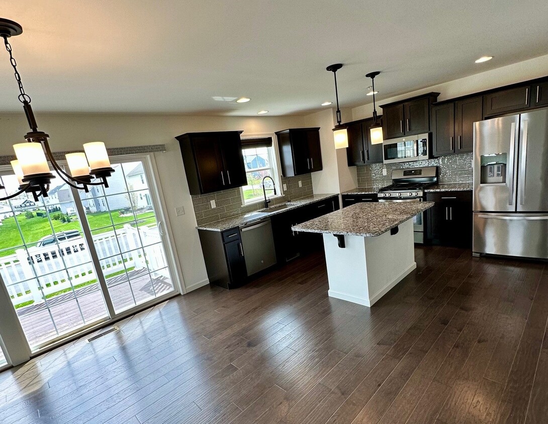
[[[107,317],[70,187],[54,179],[48,194],[0,202],[0,273],[31,348]]]

